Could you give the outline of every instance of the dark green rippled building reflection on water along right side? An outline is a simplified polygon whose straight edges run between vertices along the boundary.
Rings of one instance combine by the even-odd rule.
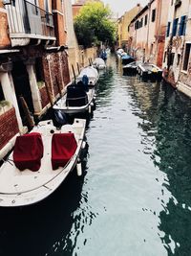
[[[165,174],[160,180],[161,242],[168,255],[191,255],[191,103],[157,83],[134,82],[129,93],[134,100],[132,110],[141,120],[143,152]]]

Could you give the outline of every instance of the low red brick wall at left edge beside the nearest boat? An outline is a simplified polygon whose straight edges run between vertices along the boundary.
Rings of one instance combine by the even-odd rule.
[[[14,108],[0,115],[0,150],[19,132]]]

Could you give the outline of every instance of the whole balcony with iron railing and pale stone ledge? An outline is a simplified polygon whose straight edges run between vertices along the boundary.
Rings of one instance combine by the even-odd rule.
[[[27,0],[4,0],[12,46],[55,40],[53,14]]]

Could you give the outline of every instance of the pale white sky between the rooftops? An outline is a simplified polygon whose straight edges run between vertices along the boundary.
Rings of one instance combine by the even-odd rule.
[[[108,4],[115,13],[115,16],[120,17],[124,12],[131,10],[138,3],[144,7],[148,4],[149,0],[102,0],[105,4]],[[74,0],[72,0],[74,3]]]

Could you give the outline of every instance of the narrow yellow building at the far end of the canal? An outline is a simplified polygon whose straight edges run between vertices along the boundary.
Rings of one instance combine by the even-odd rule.
[[[128,48],[129,38],[130,38],[128,27],[132,19],[138,14],[140,10],[141,10],[141,7],[138,4],[135,8],[125,12],[120,18],[118,18],[118,28],[117,28],[118,47]]]

